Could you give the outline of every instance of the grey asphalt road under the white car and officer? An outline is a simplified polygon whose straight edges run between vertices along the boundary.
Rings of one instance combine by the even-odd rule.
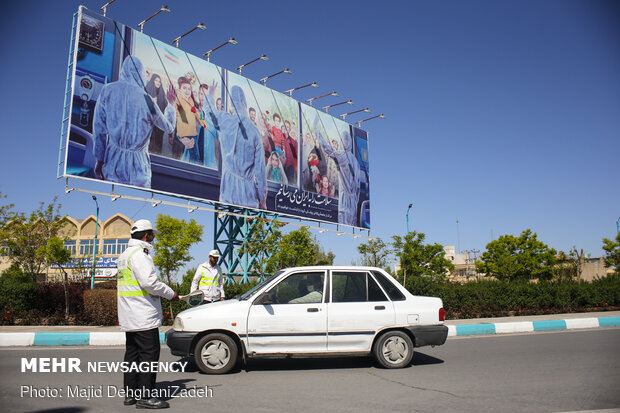
[[[411,367],[384,370],[366,358],[261,360],[224,376],[160,373],[160,388],[204,389],[170,399],[169,411],[208,412],[567,412],[620,408],[620,329],[450,338],[419,349]],[[21,358],[117,361],[122,348],[0,350],[0,411],[130,411],[120,373],[21,372]],[[162,348],[162,361],[178,361]],[[22,387],[24,386],[24,387]],[[29,389],[57,397],[28,397]],[[102,389],[71,398],[67,386]],[[101,386],[101,387],[100,387]],[[110,386],[110,387],[108,387]],[[23,389],[26,395],[20,397]]]

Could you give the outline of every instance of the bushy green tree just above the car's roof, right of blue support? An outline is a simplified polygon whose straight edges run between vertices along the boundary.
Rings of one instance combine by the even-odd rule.
[[[301,227],[282,236],[278,248],[267,262],[267,272],[287,267],[300,267],[316,263],[317,249],[310,231]]]

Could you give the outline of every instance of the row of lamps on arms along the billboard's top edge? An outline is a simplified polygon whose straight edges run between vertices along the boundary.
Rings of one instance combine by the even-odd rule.
[[[101,6],[101,10],[103,10],[103,15],[104,15],[104,16],[106,15],[106,10],[107,10],[107,7],[108,7],[110,4],[114,3],[115,1],[116,1],[116,0],[111,0],[111,1],[107,2],[106,4],[104,4],[103,6]],[[168,8],[168,6],[166,6],[166,5],[161,6],[161,8],[160,8],[159,10],[157,10],[155,13],[153,13],[152,15],[150,15],[149,17],[147,17],[146,19],[144,19],[144,20],[142,20],[140,23],[138,23],[138,27],[140,27],[140,32],[141,32],[141,33],[143,33],[143,32],[144,32],[144,25],[146,24],[146,22],[147,22],[147,21],[151,20],[153,17],[157,16],[157,15],[158,15],[159,13],[161,13],[161,12],[170,13],[170,9],[169,9],[169,8]],[[194,30],[197,30],[197,29],[200,29],[200,30],[206,30],[206,29],[207,29],[207,27],[204,25],[204,23],[198,23],[198,24],[196,25],[196,27],[194,27],[194,28],[193,28],[193,29],[191,29],[190,31],[188,31],[188,32],[186,32],[186,33],[184,33],[184,34],[182,34],[182,35],[180,35],[180,36],[178,36],[178,37],[174,38],[174,39],[172,40],[172,43],[173,43],[173,44],[174,44],[174,45],[178,48],[178,47],[179,47],[179,40],[181,40],[183,37],[187,36],[188,34],[190,34],[191,32],[193,32]],[[235,38],[234,38],[234,37],[231,37],[231,38],[230,38],[230,39],[228,39],[226,42],[222,43],[221,45],[219,45],[219,46],[217,46],[217,47],[214,47],[214,48],[213,48],[213,49],[211,49],[211,50],[206,51],[206,52],[205,52],[205,53],[203,53],[202,55],[203,55],[203,56],[206,56],[207,61],[208,61],[208,62],[210,62],[210,61],[211,61],[211,53],[213,53],[213,52],[214,52],[214,51],[216,51],[217,49],[219,49],[219,48],[221,48],[221,47],[224,47],[224,46],[226,46],[226,45],[228,45],[228,44],[235,45],[235,44],[237,44],[237,43],[238,43],[238,42],[235,40]],[[257,62],[257,61],[259,61],[259,60],[263,60],[263,61],[265,61],[265,62],[266,62],[266,61],[268,61],[268,60],[269,60],[269,58],[267,57],[267,55],[263,54],[263,55],[261,55],[261,56],[257,57],[257,58],[256,58],[256,59],[254,59],[254,60],[250,60],[250,61],[249,61],[249,62],[247,62],[247,63],[244,63],[244,64],[242,64],[242,65],[240,65],[240,66],[237,66],[237,67],[235,68],[235,70],[239,71],[239,74],[241,74],[241,71],[243,70],[243,68],[244,68],[245,66],[247,66],[247,65],[249,65],[249,64],[252,64],[252,63],[254,63],[254,62]],[[292,74],[293,72],[291,71],[291,69],[286,68],[286,69],[281,70],[281,71],[279,71],[279,72],[277,72],[277,73],[274,73],[274,74],[272,74],[272,75],[265,76],[264,78],[260,79],[260,81],[262,82],[262,84],[263,84],[264,86],[267,86],[267,80],[271,79],[272,77],[278,76],[278,75],[280,75],[280,74],[282,74],[282,73]],[[299,90],[299,89],[303,89],[303,88],[305,88],[305,87],[309,87],[309,86],[312,86],[312,87],[319,87],[319,85],[318,85],[316,82],[312,82],[312,83],[308,83],[307,85],[303,85],[303,86],[299,86],[299,87],[296,87],[296,88],[293,88],[293,89],[286,90],[286,91],[284,91],[284,93],[288,93],[290,97],[293,97],[293,92],[294,92],[294,91]],[[308,103],[310,104],[310,106],[312,106],[312,102],[314,102],[314,101],[315,101],[315,100],[317,100],[317,99],[320,99],[320,98],[323,98],[323,97],[327,97],[327,96],[338,96],[338,93],[336,93],[336,91],[333,91],[333,92],[326,93],[326,94],[321,95],[321,96],[317,96],[317,97],[313,97],[313,98],[310,98],[310,99],[306,99],[306,102],[308,102]],[[345,100],[344,102],[334,103],[333,105],[323,106],[321,109],[323,109],[323,110],[325,111],[325,113],[328,113],[329,108],[332,108],[332,107],[334,107],[334,106],[344,105],[344,104],[352,105],[352,104],[353,104],[353,101],[349,99],[349,100]],[[341,115],[339,115],[339,116],[340,116],[340,117],[342,117],[342,120],[345,120],[347,116],[349,116],[349,115],[353,115],[353,114],[355,114],[355,113],[359,113],[359,112],[366,112],[366,113],[370,113],[370,109],[369,109],[369,108],[364,108],[364,109],[356,110],[356,111],[353,111],[353,112],[343,113],[343,114],[341,114]],[[380,114],[380,115],[376,115],[376,116],[372,116],[372,117],[367,118],[367,119],[363,119],[363,120],[358,121],[358,122],[356,122],[356,123],[357,123],[357,125],[358,125],[358,127],[359,127],[359,126],[360,126],[363,122],[366,122],[366,121],[369,121],[369,120],[371,120],[371,119],[375,119],[375,118],[381,118],[381,119],[384,119],[384,118],[385,118],[385,115],[382,113],[382,114]]]

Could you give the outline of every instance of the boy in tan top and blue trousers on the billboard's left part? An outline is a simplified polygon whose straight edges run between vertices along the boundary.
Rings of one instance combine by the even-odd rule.
[[[208,128],[207,124],[200,119],[196,99],[192,91],[189,79],[181,76],[179,93],[177,97],[177,137],[185,146],[181,160],[190,163],[202,163],[200,160],[200,148],[198,143],[198,128]],[[198,124],[198,125],[197,125]]]

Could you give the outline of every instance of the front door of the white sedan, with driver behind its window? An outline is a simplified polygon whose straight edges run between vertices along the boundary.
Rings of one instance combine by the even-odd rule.
[[[292,273],[261,294],[248,313],[248,352],[318,353],[327,350],[325,271]]]

